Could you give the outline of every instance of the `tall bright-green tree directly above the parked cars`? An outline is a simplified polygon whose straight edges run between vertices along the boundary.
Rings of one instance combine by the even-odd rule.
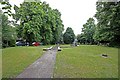
[[[18,30],[19,37],[22,37],[32,45],[32,41],[41,39],[39,28],[41,27],[41,17],[37,13],[35,2],[24,2],[20,8],[14,6],[15,14],[13,15],[16,22],[20,20]],[[39,6],[37,6],[39,7]]]

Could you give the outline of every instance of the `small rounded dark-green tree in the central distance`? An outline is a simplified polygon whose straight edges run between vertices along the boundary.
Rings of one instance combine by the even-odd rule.
[[[75,39],[75,34],[72,28],[68,27],[63,35],[63,40],[65,44],[71,44]]]

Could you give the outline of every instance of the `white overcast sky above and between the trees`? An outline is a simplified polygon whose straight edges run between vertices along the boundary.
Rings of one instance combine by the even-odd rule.
[[[24,0],[9,0],[10,4],[18,5]],[[58,9],[62,16],[64,28],[72,27],[74,33],[80,34],[83,24],[96,13],[97,0],[41,0],[49,3],[53,9]]]

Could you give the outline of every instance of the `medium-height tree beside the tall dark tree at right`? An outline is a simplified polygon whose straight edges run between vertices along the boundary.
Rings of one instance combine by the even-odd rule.
[[[93,18],[89,18],[82,28],[82,36],[84,37],[86,43],[90,44],[94,43],[93,39],[94,32],[95,32],[95,20]]]

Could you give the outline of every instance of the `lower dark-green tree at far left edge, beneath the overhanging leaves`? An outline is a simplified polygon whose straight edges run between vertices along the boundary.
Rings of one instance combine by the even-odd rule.
[[[2,13],[2,46],[13,47],[15,46],[16,32],[8,21],[8,17]]]

